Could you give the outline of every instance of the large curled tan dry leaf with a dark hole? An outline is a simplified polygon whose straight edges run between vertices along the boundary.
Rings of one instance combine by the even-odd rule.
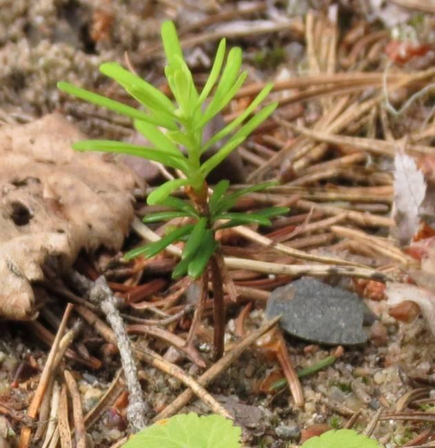
[[[0,316],[34,316],[41,266],[63,270],[81,249],[119,250],[133,217],[132,172],[78,153],[85,136],[59,114],[0,128]]]

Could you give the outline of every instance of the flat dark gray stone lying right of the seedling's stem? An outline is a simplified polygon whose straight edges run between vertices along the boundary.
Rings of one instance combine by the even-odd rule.
[[[284,332],[318,344],[357,345],[367,341],[363,301],[356,294],[303,277],[276,288],[266,316],[282,315]]]

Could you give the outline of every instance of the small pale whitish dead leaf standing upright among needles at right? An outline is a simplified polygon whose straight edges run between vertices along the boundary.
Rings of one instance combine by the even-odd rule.
[[[425,178],[412,157],[398,150],[394,157],[394,219],[401,243],[418,232],[420,206],[426,195]]]

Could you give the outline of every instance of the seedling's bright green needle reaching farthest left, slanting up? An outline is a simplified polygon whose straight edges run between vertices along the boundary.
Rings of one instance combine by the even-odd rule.
[[[77,98],[79,99],[88,101],[88,103],[99,105],[108,110],[113,110],[114,112],[118,112],[121,115],[130,116],[130,118],[132,119],[138,119],[148,121],[148,123],[159,124],[158,121],[156,121],[156,119],[146,114],[145,112],[142,112],[141,110],[130,108],[129,105],[119,103],[119,101],[114,101],[112,99],[106,98],[105,96],[101,96],[97,93],[90,92],[89,90],[79,88],[73,84],[61,81],[57,83],[57,88],[59,88],[65,93],[77,96]]]

